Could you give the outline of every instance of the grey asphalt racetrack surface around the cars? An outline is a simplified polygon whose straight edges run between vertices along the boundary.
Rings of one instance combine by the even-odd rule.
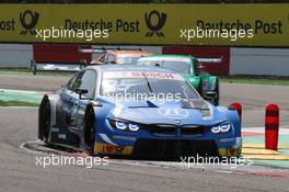
[[[53,91],[68,78],[0,76],[0,89]],[[267,103],[279,104],[281,125],[289,125],[289,87],[221,84],[221,104],[239,101],[244,106],[243,125],[263,126]],[[268,167],[196,166],[180,162],[114,160],[108,165],[36,165],[47,153],[23,149],[35,140],[36,108],[0,108],[0,192],[2,191],[287,191],[289,170]],[[273,172],[275,172],[273,174]],[[273,177],[274,176],[274,177]]]

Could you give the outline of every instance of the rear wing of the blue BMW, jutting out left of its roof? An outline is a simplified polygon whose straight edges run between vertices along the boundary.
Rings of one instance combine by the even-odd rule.
[[[31,69],[33,75],[37,71],[61,71],[61,72],[77,72],[86,67],[86,61],[80,64],[55,64],[55,63],[36,63],[31,60]]]

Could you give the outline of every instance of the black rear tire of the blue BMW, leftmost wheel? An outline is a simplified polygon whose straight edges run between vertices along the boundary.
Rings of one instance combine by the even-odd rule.
[[[50,133],[50,103],[48,100],[44,100],[41,110],[39,110],[39,133],[41,139],[48,145],[49,143],[49,133]]]

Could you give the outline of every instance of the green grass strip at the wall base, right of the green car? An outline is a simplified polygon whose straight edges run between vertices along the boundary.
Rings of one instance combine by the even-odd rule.
[[[289,78],[280,77],[222,76],[220,77],[220,81],[227,83],[289,86]]]

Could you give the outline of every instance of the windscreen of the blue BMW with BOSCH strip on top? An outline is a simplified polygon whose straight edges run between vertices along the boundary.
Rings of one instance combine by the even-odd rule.
[[[119,71],[104,72],[101,94],[108,97],[158,95],[171,99],[198,99],[195,89],[178,74]]]

